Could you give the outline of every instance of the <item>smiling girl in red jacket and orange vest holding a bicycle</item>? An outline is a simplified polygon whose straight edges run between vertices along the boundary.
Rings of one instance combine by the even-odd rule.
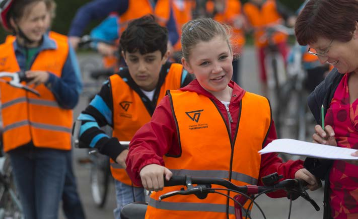
[[[256,185],[262,176],[278,172],[317,189],[320,183],[303,169],[302,161],[282,163],[275,154],[257,153],[276,138],[270,106],[266,98],[231,81],[233,54],[226,26],[212,19],[190,21],[183,26],[181,42],[183,65],[196,80],[168,92],[151,121],[133,136],[126,159],[133,182],[155,191],[146,218],[235,217],[233,202],[218,194],[203,200],[177,195],[159,201],[161,194],[180,189],[163,188],[164,178],[173,174]],[[284,192],[275,195],[283,196]]]

